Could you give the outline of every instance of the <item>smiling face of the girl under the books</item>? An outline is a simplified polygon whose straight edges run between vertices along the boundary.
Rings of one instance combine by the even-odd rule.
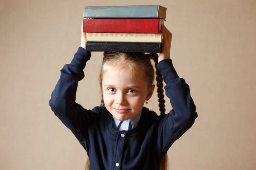
[[[131,77],[129,72],[125,68],[106,71],[102,79],[105,107],[118,120],[128,120],[138,114],[154,91],[154,85],[148,89],[143,75]]]

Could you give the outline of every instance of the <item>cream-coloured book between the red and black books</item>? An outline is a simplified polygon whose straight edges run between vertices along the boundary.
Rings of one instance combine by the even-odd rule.
[[[86,33],[87,42],[144,42],[162,43],[162,33]]]

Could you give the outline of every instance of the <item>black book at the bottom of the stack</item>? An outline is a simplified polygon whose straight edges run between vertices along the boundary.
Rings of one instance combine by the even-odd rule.
[[[160,43],[86,42],[85,49],[88,51],[161,53],[162,45]]]

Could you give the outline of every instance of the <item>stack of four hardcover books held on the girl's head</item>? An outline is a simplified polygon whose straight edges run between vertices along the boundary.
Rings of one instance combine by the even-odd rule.
[[[86,6],[83,31],[88,51],[161,53],[166,7]]]

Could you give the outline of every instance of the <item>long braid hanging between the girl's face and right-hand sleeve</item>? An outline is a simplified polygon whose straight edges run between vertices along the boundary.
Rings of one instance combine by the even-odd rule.
[[[156,68],[156,80],[157,80],[157,96],[158,96],[158,102],[159,102],[159,111],[160,111],[160,115],[165,114],[165,100],[164,95],[163,95],[163,77],[160,73],[160,71],[157,69],[157,64],[158,64],[158,55],[152,55],[152,58],[155,62],[155,68]]]

